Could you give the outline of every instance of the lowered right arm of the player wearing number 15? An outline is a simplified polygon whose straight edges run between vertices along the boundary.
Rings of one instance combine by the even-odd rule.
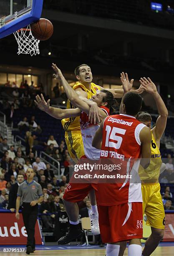
[[[146,169],[151,160],[151,130],[148,127],[142,128],[139,138],[141,141],[141,161],[140,164]]]

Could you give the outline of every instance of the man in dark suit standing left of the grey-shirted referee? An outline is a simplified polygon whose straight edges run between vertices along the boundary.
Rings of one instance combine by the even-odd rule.
[[[11,212],[15,212],[16,209],[16,198],[17,198],[17,192],[18,192],[18,187],[21,183],[24,182],[24,177],[21,174],[18,174],[17,177],[17,183],[13,184],[10,188],[10,193],[9,193],[9,204],[8,204],[8,209]]]

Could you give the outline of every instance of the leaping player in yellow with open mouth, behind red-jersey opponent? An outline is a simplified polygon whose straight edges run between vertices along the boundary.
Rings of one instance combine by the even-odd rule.
[[[56,65],[53,64],[53,69],[57,74]],[[73,86],[73,90],[78,92],[79,96],[86,97],[87,99],[91,99],[93,95],[96,95],[98,90],[103,89],[101,86],[98,86],[92,83],[93,75],[91,72],[91,68],[87,64],[82,64],[75,69],[75,75],[78,82]],[[112,92],[114,97],[122,97],[123,90],[122,89],[108,89]],[[68,100],[67,108],[76,108],[71,104]],[[98,109],[94,109],[89,114],[89,119],[91,118],[96,123],[96,118],[98,120]],[[84,156],[84,149],[83,149],[83,141],[81,137],[81,130],[80,130],[80,121],[79,117],[76,118],[66,118],[62,121],[63,129],[65,131],[65,140],[66,145],[68,148],[68,152],[76,163]]]

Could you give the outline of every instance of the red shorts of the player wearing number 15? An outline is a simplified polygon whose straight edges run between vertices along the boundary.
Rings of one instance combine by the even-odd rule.
[[[143,237],[142,203],[98,205],[99,226],[103,243],[116,243]]]

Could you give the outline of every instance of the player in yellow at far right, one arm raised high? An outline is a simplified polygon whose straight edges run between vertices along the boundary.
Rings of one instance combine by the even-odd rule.
[[[141,78],[140,82],[142,88],[146,92],[151,93],[151,95],[154,97],[159,112],[156,125],[152,129],[152,119],[149,113],[139,112],[136,116],[136,119],[149,127],[152,133],[150,165],[146,170],[139,169],[143,196],[143,212],[145,212],[147,216],[146,224],[151,226],[151,236],[149,236],[145,243],[142,255],[149,256],[156,249],[161,241],[161,238],[164,236],[165,214],[159,184],[159,174],[162,163],[159,146],[161,136],[166,128],[168,111],[151,79],[149,77],[148,79],[144,77]]]

